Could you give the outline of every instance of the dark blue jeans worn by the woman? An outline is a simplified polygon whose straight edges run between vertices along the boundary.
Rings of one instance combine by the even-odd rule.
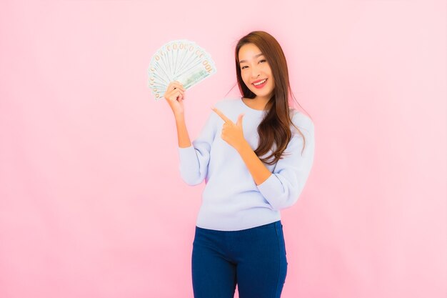
[[[287,274],[281,221],[240,231],[196,227],[194,298],[279,298]]]

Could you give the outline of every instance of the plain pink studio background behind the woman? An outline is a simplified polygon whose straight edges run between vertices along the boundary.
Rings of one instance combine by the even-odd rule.
[[[173,39],[214,58],[186,92],[194,139],[255,29],[316,126],[282,297],[446,297],[446,2],[427,0],[1,1],[0,297],[193,296],[204,184],[179,176],[147,69]]]

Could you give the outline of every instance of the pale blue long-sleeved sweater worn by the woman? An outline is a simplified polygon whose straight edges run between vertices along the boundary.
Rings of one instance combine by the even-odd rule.
[[[266,111],[252,109],[241,97],[222,99],[214,106],[234,123],[244,113],[243,136],[255,150],[258,125]],[[264,164],[272,174],[258,186],[236,149],[221,139],[224,120],[214,111],[191,146],[179,147],[179,169],[184,182],[206,182],[197,227],[237,231],[269,224],[281,219],[281,209],[297,201],[311,172],[315,142],[311,119],[295,109],[291,109],[292,115],[293,124],[306,138],[303,153],[303,137],[291,126],[293,137],[285,151],[289,154],[283,153],[283,159],[276,164]]]

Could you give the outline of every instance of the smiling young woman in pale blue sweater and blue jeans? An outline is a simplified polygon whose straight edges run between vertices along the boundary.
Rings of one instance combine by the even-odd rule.
[[[185,89],[164,98],[176,119],[180,174],[206,181],[192,249],[195,298],[278,298],[287,259],[280,210],[301,194],[313,164],[313,122],[288,105],[286,58],[264,31],[236,45],[242,97],[215,104],[192,142],[184,118]]]

